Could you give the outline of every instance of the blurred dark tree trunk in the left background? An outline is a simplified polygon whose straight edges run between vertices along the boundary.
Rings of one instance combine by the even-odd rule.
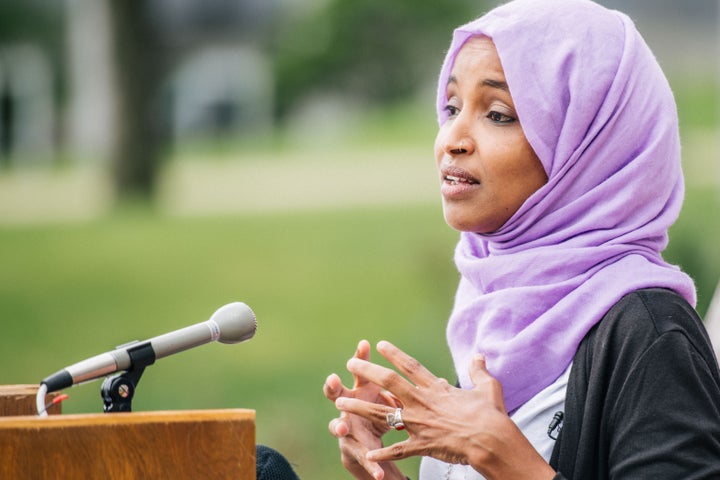
[[[152,197],[168,142],[161,104],[167,66],[150,5],[145,0],[110,0],[117,95],[112,168],[120,200]]]

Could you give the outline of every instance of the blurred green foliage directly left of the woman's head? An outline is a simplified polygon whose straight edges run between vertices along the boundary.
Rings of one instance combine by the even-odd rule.
[[[300,21],[288,19],[274,45],[278,115],[313,91],[381,102],[412,95],[437,74],[453,28],[488,3],[332,0]]]

